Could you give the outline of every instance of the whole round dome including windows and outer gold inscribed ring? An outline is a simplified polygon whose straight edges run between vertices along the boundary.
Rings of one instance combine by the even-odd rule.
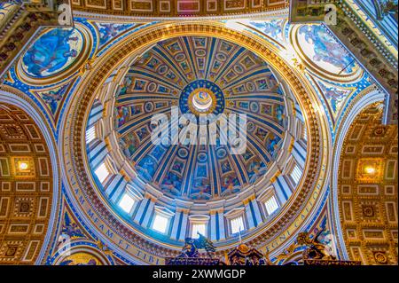
[[[137,32],[148,37],[140,36],[137,41],[132,41],[129,38],[135,36],[132,33],[115,39],[113,45],[108,45],[108,50],[105,50],[106,46],[104,53],[100,51],[102,55],[98,55],[109,66],[103,70],[99,68],[101,65],[93,63],[92,69],[83,73],[82,77],[88,78],[97,74],[98,87],[89,84],[88,88],[82,88],[81,84],[76,90],[81,95],[72,96],[70,100],[71,107],[82,106],[78,110],[82,117],[73,119],[82,122],[79,126],[82,128],[73,130],[77,127],[73,122],[62,130],[68,138],[73,132],[78,146],[73,154],[65,153],[65,156],[67,159],[82,158],[79,161],[82,179],[79,177],[77,181],[85,185],[68,189],[68,193],[71,198],[78,193],[82,193],[81,199],[92,198],[90,201],[79,200],[85,206],[79,210],[85,209],[82,213],[90,213],[93,221],[98,219],[95,225],[100,225],[100,229],[113,229],[113,239],[107,239],[113,241],[113,245],[121,246],[117,237],[123,235],[121,242],[129,243],[129,248],[124,248],[126,256],[132,256],[134,248],[143,245],[148,247],[146,252],[159,258],[175,253],[185,237],[196,235],[195,223],[207,237],[220,240],[216,245],[222,253],[239,239],[237,229],[232,226],[232,220],[236,218],[242,222],[238,227],[241,236],[247,239],[255,240],[256,232],[266,231],[267,225],[278,227],[270,229],[272,236],[264,235],[257,240],[265,248],[264,242],[270,240],[268,237],[275,236],[286,225],[283,214],[301,217],[301,221],[306,218],[299,215],[301,208],[303,214],[309,213],[300,198],[316,185],[309,183],[304,190],[296,188],[305,183],[302,173],[312,162],[307,158],[308,130],[309,141],[320,131],[314,125],[307,127],[302,109],[305,105],[311,109],[310,101],[316,94],[304,90],[296,76],[299,74],[280,59],[269,43],[258,43],[249,35],[225,28],[223,23],[212,25],[163,27],[153,24]],[[215,28],[220,34],[213,36],[207,32],[208,27]],[[185,29],[192,29],[192,35],[184,36],[182,30]],[[175,30],[178,33],[172,32]],[[164,32],[168,35],[163,35]],[[146,42],[147,38],[152,39]],[[131,43],[138,46],[128,47]],[[119,46],[126,48],[126,51],[119,49],[123,50],[123,56],[111,58]],[[89,81],[82,80],[82,83]],[[191,97],[199,94],[199,88],[205,89],[201,90],[202,98]],[[81,91],[85,91],[84,96]],[[299,91],[303,97],[312,95],[311,99],[297,102],[293,92]],[[207,106],[209,97],[215,105]],[[85,101],[77,102],[76,99]],[[194,100],[200,106],[196,106]],[[251,152],[239,154],[235,161],[234,157],[225,157],[226,148],[218,148],[218,145],[208,148],[153,145],[150,139],[153,129],[149,124],[153,114],[163,111],[168,115],[170,106],[176,106],[182,114],[196,114],[203,110],[201,103],[205,103],[206,113],[212,109],[209,112],[216,111],[216,114],[219,110],[247,114],[250,119],[247,122],[247,148]],[[74,113],[72,108],[66,111]],[[82,145],[82,129],[91,133],[93,127],[95,138]],[[273,141],[276,137],[278,140]],[[284,146],[278,145],[280,142]],[[316,143],[313,147],[315,152],[319,145]],[[63,146],[66,151],[71,148],[67,142]],[[325,149],[321,151],[325,152]],[[190,157],[188,161],[184,160],[187,156]],[[315,153],[312,158],[314,162],[321,162],[327,157]],[[260,164],[262,159],[264,165]],[[275,163],[277,160],[279,162]],[[65,161],[66,167],[74,164],[76,161]],[[91,170],[87,169],[89,166]],[[269,169],[273,170],[270,175]],[[316,166],[311,169],[317,170]],[[69,169],[66,171],[74,174]],[[325,171],[315,173],[325,174]],[[237,178],[238,182],[231,182],[231,177]],[[312,177],[309,175],[308,178]],[[68,185],[78,183],[71,181]],[[325,193],[324,184],[316,190]],[[291,196],[295,197],[297,208],[286,206],[292,201]],[[268,201],[274,201],[271,208],[266,206],[266,203],[270,204]],[[274,217],[279,218],[278,222],[271,221]],[[162,227],[155,225],[160,218],[163,219]],[[101,221],[105,224],[99,224],[99,219],[104,219]],[[117,228],[108,225],[117,225]],[[298,227],[292,224],[292,229]],[[125,231],[128,237],[124,236]],[[145,244],[141,244],[142,241]],[[155,251],[151,249],[153,246]]]

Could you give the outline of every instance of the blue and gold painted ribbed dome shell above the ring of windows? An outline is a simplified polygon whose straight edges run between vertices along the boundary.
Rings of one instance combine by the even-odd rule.
[[[286,98],[270,66],[235,43],[182,36],[153,45],[129,67],[116,93],[114,130],[140,180],[162,193],[211,200],[256,184],[278,158]],[[246,153],[229,145],[154,145],[154,114],[246,114]]]

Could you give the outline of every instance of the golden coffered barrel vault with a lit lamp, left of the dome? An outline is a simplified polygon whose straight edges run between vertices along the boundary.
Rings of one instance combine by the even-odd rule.
[[[0,104],[0,264],[34,264],[51,215],[49,150],[35,122]]]

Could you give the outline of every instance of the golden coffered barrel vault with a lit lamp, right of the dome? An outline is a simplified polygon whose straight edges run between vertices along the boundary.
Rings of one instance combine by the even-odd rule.
[[[338,201],[348,255],[397,264],[398,130],[381,125],[380,104],[358,114],[340,155]]]

